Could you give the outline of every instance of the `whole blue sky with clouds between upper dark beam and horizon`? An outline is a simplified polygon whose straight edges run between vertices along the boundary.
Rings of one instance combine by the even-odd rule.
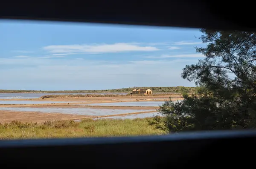
[[[0,20],[0,89],[195,86],[199,29]]]

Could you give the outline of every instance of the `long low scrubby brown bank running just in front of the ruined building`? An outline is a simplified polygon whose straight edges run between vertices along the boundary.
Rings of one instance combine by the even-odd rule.
[[[161,94],[153,94],[153,95],[94,95],[94,94],[86,94],[86,95],[44,95],[40,98],[72,98],[72,97],[127,97],[127,96],[135,96],[135,97],[150,97],[150,96],[172,96],[172,95],[180,95],[179,93],[177,94],[167,94],[167,93],[161,93]]]

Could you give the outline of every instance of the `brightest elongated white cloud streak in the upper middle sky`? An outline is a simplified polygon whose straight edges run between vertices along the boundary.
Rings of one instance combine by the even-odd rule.
[[[130,43],[98,44],[98,45],[51,45],[43,49],[52,53],[107,53],[107,52],[132,52],[132,51],[157,51],[156,47],[138,46]]]

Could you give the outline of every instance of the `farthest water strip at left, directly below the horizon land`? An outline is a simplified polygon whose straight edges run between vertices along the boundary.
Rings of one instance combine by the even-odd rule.
[[[127,93],[0,93],[0,99],[31,99],[39,98],[44,95],[87,95],[87,94],[97,94],[97,95],[127,95]]]

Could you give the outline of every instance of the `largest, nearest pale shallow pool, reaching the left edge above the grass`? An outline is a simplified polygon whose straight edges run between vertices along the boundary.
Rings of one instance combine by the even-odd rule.
[[[130,109],[92,109],[92,108],[43,108],[43,107],[0,107],[0,110],[9,110],[15,112],[42,112],[42,113],[63,113],[63,114],[75,114],[75,115],[115,115],[123,113],[133,112],[146,112],[150,110],[130,110]],[[153,109],[152,109],[153,110]]]

